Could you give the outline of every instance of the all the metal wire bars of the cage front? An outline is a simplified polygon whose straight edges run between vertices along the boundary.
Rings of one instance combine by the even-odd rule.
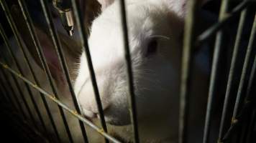
[[[78,106],[78,101],[76,100],[76,95],[73,91],[73,87],[72,87],[72,83],[70,80],[70,73],[68,70],[68,66],[67,63],[65,61],[65,55],[63,54],[63,49],[62,49],[62,45],[60,43],[60,37],[58,36],[58,32],[55,29],[55,25],[53,24],[52,21],[52,15],[48,6],[48,1],[46,0],[40,0],[40,3],[42,5],[42,9],[45,15],[45,19],[47,21],[47,26],[48,26],[48,30],[50,31],[50,36],[52,38],[53,44],[55,46],[55,51],[57,51],[58,54],[58,59],[60,62],[60,66],[61,69],[63,70],[63,73],[65,74],[65,79],[68,82],[68,87],[70,90],[70,95],[73,99],[73,104],[76,107],[76,111],[73,111],[72,109],[70,109],[67,105],[63,104],[63,102],[60,102],[60,100],[58,99],[58,92],[57,89],[55,87],[55,84],[53,82],[53,78],[52,75],[50,74],[50,69],[47,65],[47,61],[45,58],[45,55],[43,54],[43,50],[42,47],[40,45],[39,39],[37,38],[37,35],[35,34],[35,26],[32,23],[32,19],[29,16],[29,12],[27,10],[27,6],[25,4],[25,2],[23,0],[18,0],[19,2],[19,6],[22,9],[22,15],[24,16],[24,19],[26,20],[26,24],[27,24],[27,28],[29,29],[29,34],[32,37],[32,41],[33,44],[35,46],[35,49],[37,50],[37,54],[40,57],[40,62],[43,66],[43,69],[45,71],[45,73],[47,74],[47,80],[50,82],[50,86],[52,88],[52,92],[53,94],[49,94],[48,92],[46,92],[44,89],[42,89],[40,87],[40,83],[38,82],[38,79],[32,69],[31,64],[29,63],[29,59],[27,58],[26,53],[24,52],[23,46],[22,46],[22,42],[21,42],[21,37],[19,37],[18,34],[18,29],[14,24],[14,20],[12,19],[12,16],[10,14],[9,8],[8,6],[5,4],[4,0],[1,0],[1,7],[2,9],[4,9],[4,12],[6,14],[6,17],[9,21],[10,26],[12,27],[12,30],[14,32],[14,36],[16,38],[16,40],[18,41],[19,47],[22,49],[23,51],[23,56],[24,59],[26,61],[26,65],[29,68],[29,71],[31,72],[33,78],[35,79],[35,83],[29,81],[29,79],[27,79],[26,77],[24,77],[24,73],[22,71],[22,68],[19,65],[19,62],[17,61],[17,57],[15,57],[14,51],[12,51],[12,49],[10,48],[9,42],[8,42],[8,38],[6,36],[6,34],[4,33],[4,29],[0,24],[0,31],[1,31],[1,36],[4,39],[4,43],[6,44],[7,49],[9,49],[9,53],[12,56],[12,59],[14,59],[14,62],[17,66],[18,71],[15,71],[14,69],[12,69],[9,65],[9,62],[7,62],[7,60],[4,61],[0,61],[0,65],[2,68],[0,68],[0,73],[1,73],[1,81],[0,81],[0,89],[1,92],[4,92],[4,98],[6,100],[8,100],[8,102],[12,103],[12,106],[14,108],[16,108],[16,110],[18,112],[20,112],[22,114],[22,117],[24,119],[32,119],[33,124],[36,125],[36,119],[32,114],[32,109],[30,109],[24,93],[22,92],[22,89],[19,85],[19,83],[17,82],[17,79],[21,79],[27,88],[27,91],[29,93],[29,97],[32,100],[32,103],[34,105],[34,108],[37,112],[37,116],[40,119],[40,122],[42,124],[43,129],[45,130],[45,132],[47,132],[47,129],[45,127],[45,123],[42,119],[42,115],[40,114],[40,109],[37,107],[35,99],[32,95],[31,89],[30,88],[34,88],[36,89],[38,92],[40,92],[40,96],[42,97],[42,101],[45,104],[45,108],[47,110],[47,114],[50,118],[51,124],[53,129],[55,130],[55,135],[58,139],[58,142],[61,142],[60,136],[58,134],[58,129],[55,127],[55,122],[52,119],[52,114],[50,111],[50,108],[47,105],[47,102],[45,100],[45,97],[47,97],[48,99],[52,100],[53,102],[55,102],[56,104],[58,104],[58,109],[60,110],[60,114],[61,114],[61,119],[63,119],[63,122],[65,124],[65,130],[68,134],[68,139],[69,142],[73,142],[73,137],[70,134],[70,129],[68,126],[68,122],[65,119],[65,114],[63,112],[63,110],[65,109],[66,111],[68,111],[70,114],[72,114],[74,117],[78,118],[79,120],[79,124],[80,124],[80,129],[81,132],[83,134],[83,141],[84,142],[88,142],[88,138],[86,135],[86,130],[84,127],[84,124],[88,125],[89,127],[95,129],[97,132],[99,132],[99,134],[103,135],[106,139],[106,142],[120,142],[119,140],[115,139],[114,137],[112,137],[109,133],[108,133],[108,129],[106,127],[106,122],[104,119],[104,111],[102,109],[102,104],[101,104],[101,98],[99,95],[99,89],[97,87],[97,83],[96,83],[96,77],[95,77],[95,73],[93,71],[93,64],[91,61],[91,55],[90,55],[90,51],[88,49],[88,41],[87,41],[87,36],[86,36],[86,31],[85,31],[85,27],[83,26],[83,17],[81,14],[81,9],[78,9],[78,1],[76,0],[72,0],[71,4],[73,6],[73,10],[74,10],[74,16],[76,19],[76,26],[78,26],[78,31],[80,34],[80,38],[81,38],[81,45],[83,47],[83,49],[85,49],[86,51],[86,58],[88,61],[88,68],[90,71],[90,76],[91,76],[91,82],[93,84],[93,92],[95,94],[96,97],[96,103],[97,103],[97,107],[99,110],[99,117],[101,120],[101,127],[97,127],[95,124],[93,124],[91,121],[89,121],[88,119],[84,118],[81,114],[81,110]],[[224,131],[224,124],[225,124],[225,120],[227,118],[227,107],[229,105],[229,96],[230,96],[230,90],[231,90],[231,84],[234,81],[234,66],[237,63],[237,54],[238,54],[238,49],[239,49],[239,45],[240,45],[240,40],[241,40],[241,36],[242,36],[242,31],[243,31],[243,27],[244,27],[244,20],[246,19],[247,16],[247,7],[250,6],[250,2],[251,1],[242,1],[237,7],[235,7],[231,12],[227,12],[228,6],[229,6],[229,0],[224,0],[221,3],[221,9],[220,9],[220,14],[219,14],[219,22],[217,22],[216,24],[214,24],[213,26],[211,26],[209,29],[207,29],[206,31],[204,31],[202,34],[200,34],[198,37],[195,37],[194,34],[194,26],[196,25],[196,10],[198,9],[198,1],[194,0],[194,1],[189,1],[188,4],[188,15],[186,17],[186,26],[185,26],[185,32],[184,32],[184,39],[183,39],[183,57],[182,57],[182,73],[181,73],[181,83],[180,83],[180,118],[179,118],[179,130],[178,130],[178,142],[180,143],[186,143],[188,142],[187,140],[187,135],[188,135],[188,116],[189,116],[189,109],[188,109],[188,105],[189,105],[189,87],[190,87],[190,79],[191,79],[191,61],[193,61],[193,51],[192,48],[193,46],[196,46],[198,44],[203,44],[205,41],[208,41],[211,36],[214,36],[216,34],[216,41],[215,41],[215,47],[214,47],[214,59],[213,59],[213,64],[212,64],[212,69],[211,69],[211,79],[210,79],[210,86],[209,86],[209,99],[208,99],[208,104],[207,104],[207,109],[206,109],[206,121],[205,121],[205,126],[204,126],[204,139],[203,142],[209,142],[209,130],[211,128],[211,114],[212,114],[212,104],[213,104],[213,98],[216,90],[216,72],[218,70],[218,66],[219,66],[219,52],[221,49],[221,44],[222,42],[222,29],[225,25],[228,24],[228,22],[234,18],[234,16],[237,16],[238,14],[240,14],[240,18],[239,18],[239,26],[238,26],[238,30],[237,30],[237,36],[234,42],[234,51],[232,54],[232,62],[231,62],[231,67],[229,69],[229,78],[228,78],[228,82],[227,82],[227,89],[226,89],[226,95],[225,95],[225,99],[224,99],[224,107],[223,107],[223,111],[222,111],[222,115],[221,115],[221,126],[219,129],[219,140],[218,142],[226,142],[227,140],[229,140],[232,136],[232,134],[234,133],[234,131],[236,129],[238,129],[238,125],[242,124],[241,122],[245,119],[245,117],[248,114],[252,114],[251,117],[251,122],[248,123],[248,129],[246,129],[248,131],[248,135],[245,135],[243,140],[245,140],[245,138],[247,139],[247,142],[250,142],[250,138],[252,136],[252,124],[254,124],[253,119],[255,119],[255,111],[252,112],[251,110],[253,110],[253,106],[252,106],[252,94],[251,94],[251,89],[253,88],[253,82],[255,81],[255,70],[256,70],[256,56],[253,55],[252,53],[252,49],[253,49],[253,44],[255,42],[255,31],[256,31],[256,16],[254,19],[254,24],[252,26],[252,33],[250,36],[250,41],[247,47],[247,53],[244,59],[244,65],[243,65],[243,69],[242,69],[242,76],[239,82],[239,88],[238,88],[238,92],[237,92],[237,100],[234,106],[234,112],[233,112],[233,117],[232,117],[232,122],[231,125],[229,127],[229,129],[227,130],[227,132]],[[132,121],[132,127],[133,127],[133,131],[134,131],[134,142],[140,142],[140,137],[139,137],[139,131],[138,131],[138,126],[139,124],[137,123],[137,107],[136,107],[136,98],[135,98],[135,93],[134,93],[134,79],[133,79],[133,74],[132,74],[132,61],[131,61],[131,55],[129,54],[129,39],[128,39],[128,29],[127,29],[127,18],[126,18],[126,9],[125,9],[125,1],[122,0],[120,1],[120,6],[122,9],[122,28],[123,28],[123,33],[124,33],[124,48],[125,48],[125,59],[126,59],[126,64],[127,64],[127,78],[128,78],[128,86],[129,86],[129,104],[130,104],[130,115],[131,115],[131,121]],[[196,39],[196,41],[195,41]],[[252,69],[249,73],[249,68],[248,68],[248,64],[250,62],[250,59],[253,59],[253,65],[252,65]],[[17,87],[18,92],[20,97],[22,98],[22,103],[19,102],[19,97],[18,94],[16,94],[14,92],[14,89],[12,88],[12,84],[9,82],[9,76],[6,75],[6,71],[9,71],[9,73],[11,73],[11,77],[12,80],[14,81],[15,87]],[[241,104],[242,99],[240,99],[240,96],[242,94],[242,89],[244,89],[244,82],[245,81],[245,76],[250,74],[250,78],[249,78],[249,82],[248,82],[248,86],[247,86],[247,92],[245,94],[245,102],[244,104]],[[5,86],[5,84],[2,82],[6,82],[7,83],[7,87]],[[11,91],[11,93],[9,92]],[[10,93],[10,94],[9,94]],[[11,96],[12,95],[12,96]],[[24,104],[25,109],[22,107],[22,104]],[[242,106],[241,111],[238,111],[238,107]],[[25,110],[25,111],[24,111]],[[27,114],[29,115],[29,117],[27,117]],[[249,125],[250,124],[250,125]],[[38,126],[36,125],[35,127],[38,128]]]

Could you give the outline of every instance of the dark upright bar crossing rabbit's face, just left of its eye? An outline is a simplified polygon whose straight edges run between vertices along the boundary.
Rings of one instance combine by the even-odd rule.
[[[133,81],[133,73],[132,73],[132,59],[129,51],[129,36],[128,36],[128,28],[127,28],[127,14],[125,9],[125,0],[120,1],[121,8],[121,16],[122,16],[122,29],[123,29],[123,40],[124,40],[124,57],[127,65],[127,79],[129,86],[129,113],[132,121],[132,127],[134,132],[134,142],[139,143],[139,130],[138,130],[138,122],[137,122],[137,105],[134,93],[134,81]]]

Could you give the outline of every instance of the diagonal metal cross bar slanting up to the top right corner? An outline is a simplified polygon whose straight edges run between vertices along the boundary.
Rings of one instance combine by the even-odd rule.
[[[217,31],[219,31],[219,29],[221,29],[221,27],[225,26],[226,24],[228,24],[228,22],[234,18],[235,16],[237,16],[237,14],[239,14],[243,9],[247,8],[247,6],[250,6],[250,4],[253,1],[250,0],[245,0],[243,2],[241,2],[241,4],[239,4],[238,6],[236,6],[231,13],[229,14],[225,14],[224,18],[221,19],[221,21],[219,21],[218,23],[214,24],[213,26],[211,26],[209,29],[205,30],[202,34],[200,34],[198,36],[198,38],[196,39],[196,45],[201,45],[203,44],[205,41],[207,41],[208,39],[211,38],[211,36],[214,36],[214,34],[216,34]]]

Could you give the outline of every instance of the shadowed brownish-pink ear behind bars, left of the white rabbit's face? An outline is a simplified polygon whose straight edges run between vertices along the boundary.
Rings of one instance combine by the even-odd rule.
[[[32,40],[32,36],[29,33],[29,29],[27,28],[26,21],[24,21],[23,15],[19,6],[12,6],[11,9],[12,16],[15,19],[15,24],[17,25],[19,34],[24,35],[22,39],[24,44],[27,46],[29,53],[32,58],[36,61],[36,63],[42,68],[42,63],[40,57],[37,54],[37,49],[35,48],[35,44]],[[47,65],[51,71],[52,77],[55,78],[56,84],[61,84],[60,82],[64,82],[63,72],[58,61],[58,54],[55,51],[55,46],[50,38],[49,34],[47,34],[48,30],[40,29],[39,26],[35,25],[35,33],[37,35],[37,39],[42,47],[43,54],[47,61]],[[69,36],[65,36],[64,34],[58,34],[60,38],[60,44],[63,48],[63,54],[65,55],[65,59],[68,64],[68,69],[75,69],[76,60],[79,59],[81,54],[81,46],[77,44],[77,42],[71,39]],[[74,72],[70,72],[71,79],[74,79]]]

